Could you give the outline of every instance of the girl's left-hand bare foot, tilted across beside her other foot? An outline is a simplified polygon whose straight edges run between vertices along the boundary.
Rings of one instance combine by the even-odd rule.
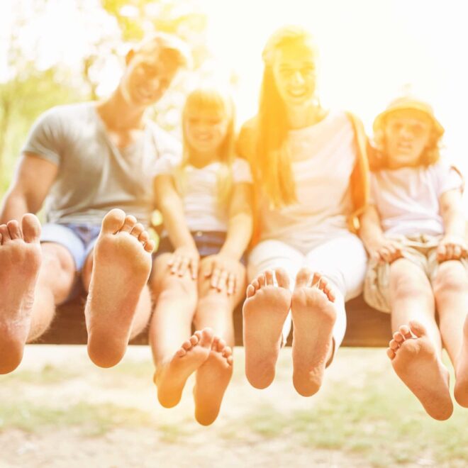
[[[213,331],[204,328],[182,344],[167,364],[160,364],[155,373],[157,399],[165,408],[179,403],[186,380],[208,359]]]

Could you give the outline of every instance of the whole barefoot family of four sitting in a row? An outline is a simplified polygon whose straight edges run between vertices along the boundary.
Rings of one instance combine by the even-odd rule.
[[[364,291],[391,313],[387,355],[425,411],[453,411],[442,345],[468,408],[463,179],[440,158],[433,109],[392,101],[371,145],[356,116],[321,106],[316,45],[289,26],[267,41],[258,111],[238,137],[228,91],[205,83],[186,97],[181,145],[145,111],[187,60],[156,33],[128,52],[108,99],[52,108],[30,131],[0,211],[0,374],[84,289],[91,360],[117,364],[149,324],[157,398],[177,405],[195,374],[208,425],[233,372],[239,303],[250,384],[272,384],[293,325],[293,384],[311,396],[345,335],[345,302]]]

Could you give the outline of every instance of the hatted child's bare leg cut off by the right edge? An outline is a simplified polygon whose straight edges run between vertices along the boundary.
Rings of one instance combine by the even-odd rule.
[[[440,334],[455,368],[455,399],[468,408],[468,274],[464,264],[440,264],[433,287]]]

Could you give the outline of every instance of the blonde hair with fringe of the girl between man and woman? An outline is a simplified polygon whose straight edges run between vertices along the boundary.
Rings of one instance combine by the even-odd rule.
[[[191,91],[187,96],[184,109],[182,111],[182,122],[184,123],[189,111],[210,110],[219,113],[223,118],[228,119],[223,143],[218,149],[218,162],[221,165],[218,169],[218,204],[225,206],[228,202],[231,190],[233,188],[232,165],[235,158],[234,136],[235,136],[235,107],[233,99],[227,91],[218,87],[199,87]],[[182,162],[176,171],[176,185],[180,193],[185,189],[185,172],[190,161],[190,145],[186,138],[185,126],[182,125],[182,137],[184,150]]]

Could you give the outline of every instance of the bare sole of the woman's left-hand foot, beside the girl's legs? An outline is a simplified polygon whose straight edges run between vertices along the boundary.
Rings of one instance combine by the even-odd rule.
[[[273,283],[274,273],[278,286]],[[274,379],[290,307],[289,278],[283,269],[260,274],[247,286],[243,306],[245,375],[257,389],[265,389]]]

